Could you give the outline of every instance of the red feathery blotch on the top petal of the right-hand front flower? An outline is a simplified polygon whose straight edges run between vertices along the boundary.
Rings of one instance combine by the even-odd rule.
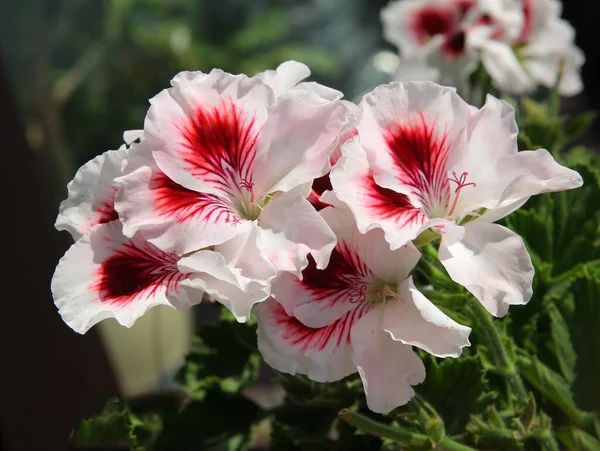
[[[434,134],[421,114],[412,124],[396,122],[385,134],[398,179],[410,188],[425,209],[448,208],[450,187],[446,171],[450,143],[447,133]]]

